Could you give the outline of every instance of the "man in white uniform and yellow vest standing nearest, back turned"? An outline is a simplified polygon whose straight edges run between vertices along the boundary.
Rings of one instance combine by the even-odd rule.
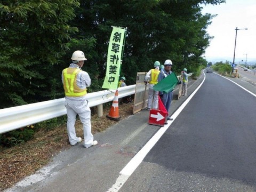
[[[93,140],[91,133],[91,109],[86,100],[87,87],[91,85],[89,74],[81,68],[87,60],[82,51],[75,51],[71,57],[72,63],[62,71],[62,83],[65,90],[65,107],[67,109],[67,131],[70,145],[74,146],[82,142],[81,137],[76,136],[75,122],[78,114],[83,124],[84,147],[88,148],[98,144]]]

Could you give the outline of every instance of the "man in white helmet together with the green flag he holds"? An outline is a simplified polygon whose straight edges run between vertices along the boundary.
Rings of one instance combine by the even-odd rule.
[[[160,98],[169,113],[169,108],[172,102],[172,91],[174,87],[179,83],[179,79],[172,73],[172,61],[167,59],[164,62],[164,70],[161,71],[158,75],[158,83],[154,85],[153,89],[159,91]],[[173,120],[170,116],[167,117],[168,120]]]

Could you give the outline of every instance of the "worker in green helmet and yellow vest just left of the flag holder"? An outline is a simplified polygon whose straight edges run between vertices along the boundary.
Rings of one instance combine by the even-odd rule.
[[[145,76],[145,83],[149,83],[147,110],[150,110],[151,108],[154,108],[154,109],[158,108],[158,91],[154,91],[153,86],[157,84],[157,77],[160,73],[159,66],[160,66],[160,62],[155,61],[154,63],[155,68],[150,69]]]

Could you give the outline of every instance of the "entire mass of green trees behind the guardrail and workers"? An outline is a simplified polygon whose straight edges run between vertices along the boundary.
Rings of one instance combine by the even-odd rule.
[[[193,72],[212,37],[214,15],[201,4],[224,0],[0,1],[1,108],[63,96],[60,74],[73,51],[84,51],[92,91],[106,73],[111,26],[127,27],[121,75],[134,84],[138,71],[171,59],[173,70]],[[74,18],[74,19],[73,19]],[[78,31],[79,29],[79,31]],[[77,32],[77,33],[76,33]]]

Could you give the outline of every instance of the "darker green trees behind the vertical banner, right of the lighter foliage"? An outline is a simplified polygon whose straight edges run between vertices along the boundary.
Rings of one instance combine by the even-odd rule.
[[[206,28],[214,15],[202,15],[202,3],[218,4],[212,1],[89,1],[81,2],[77,9],[75,26],[79,28],[78,38],[94,37],[94,55],[91,71],[104,78],[110,26],[127,27],[121,75],[127,77],[127,84],[134,84],[137,71],[147,71],[155,60],[163,63],[171,59],[173,70],[184,66],[198,67],[201,55],[209,46],[210,37]]]

